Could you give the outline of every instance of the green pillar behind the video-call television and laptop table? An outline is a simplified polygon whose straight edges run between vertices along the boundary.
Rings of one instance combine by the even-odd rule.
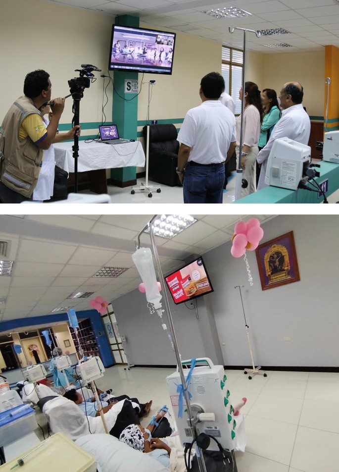
[[[139,26],[139,17],[122,15],[115,18],[116,25]],[[125,139],[137,140],[138,97],[130,100],[133,94],[125,94],[125,80],[138,80],[138,72],[118,71],[113,73],[113,123],[118,126],[119,135]],[[120,97],[119,97],[120,95]],[[123,97],[123,98],[121,98]],[[129,187],[137,183],[136,167],[118,167],[111,169],[111,179],[119,187]]]

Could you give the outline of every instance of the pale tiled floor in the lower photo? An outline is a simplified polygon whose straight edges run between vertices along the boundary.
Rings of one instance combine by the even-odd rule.
[[[153,414],[169,404],[166,375],[173,369],[111,367],[97,380],[141,402],[153,400]],[[267,371],[248,380],[226,371],[231,402],[247,397],[247,447],[237,453],[239,472],[338,472],[339,374]]]

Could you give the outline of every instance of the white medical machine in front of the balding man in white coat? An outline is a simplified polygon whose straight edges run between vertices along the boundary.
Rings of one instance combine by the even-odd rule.
[[[309,146],[290,138],[278,138],[268,157],[265,183],[273,187],[297,190],[310,162]]]

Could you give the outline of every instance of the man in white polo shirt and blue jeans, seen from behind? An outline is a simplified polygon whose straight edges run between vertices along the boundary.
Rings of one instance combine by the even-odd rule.
[[[236,147],[236,118],[219,101],[224,79],[210,72],[201,79],[202,104],[190,109],[178,134],[177,173],[184,203],[222,203],[225,162]]]

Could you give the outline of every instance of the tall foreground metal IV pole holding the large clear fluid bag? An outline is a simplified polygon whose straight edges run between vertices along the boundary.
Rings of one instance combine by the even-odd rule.
[[[169,323],[169,328],[170,328],[170,332],[171,332],[171,336],[172,336],[174,351],[175,351],[175,355],[176,355],[176,358],[177,358],[180,378],[181,378],[181,382],[183,384],[183,387],[185,389],[184,390],[184,395],[185,395],[185,400],[186,400],[186,404],[187,404],[187,414],[188,414],[188,417],[189,417],[189,427],[191,428],[191,431],[192,431],[192,437],[195,439],[198,434],[197,434],[196,427],[192,424],[192,421],[191,421],[191,420],[193,420],[194,416],[193,416],[193,413],[192,413],[190,397],[189,397],[188,391],[186,390],[186,381],[185,381],[183,366],[181,364],[181,357],[180,357],[180,352],[179,352],[179,347],[178,347],[178,341],[177,341],[177,337],[176,337],[175,330],[174,330],[173,319],[172,319],[171,310],[170,310],[169,303],[168,303],[168,298],[167,298],[167,292],[166,292],[166,288],[165,288],[164,276],[163,276],[161,265],[160,265],[159,254],[158,254],[158,250],[157,250],[157,247],[156,247],[154,232],[153,232],[153,227],[152,227],[152,222],[154,221],[154,219],[156,217],[157,217],[157,215],[154,215],[153,218],[146,224],[146,226],[138,234],[137,249],[140,249],[140,236],[145,232],[145,230],[148,230],[150,240],[151,240],[151,244],[152,244],[154,259],[155,259],[157,269],[158,269],[158,275],[159,275],[159,280],[160,280],[160,284],[161,284],[161,290],[162,290],[162,294],[163,294],[163,300],[164,300],[164,304],[165,304],[166,315],[167,315],[167,318],[168,318],[168,323]],[[205,461],[203,459],[202,450],[200,449],[200,447],[197,444],[195,444],[195,450],[196,450],[196,458],[197,458],[197,462],[198,462],[198,466],[199,466],[199,471],[200,472],[207,472],[206,471],[206,466],[205,466]]]

